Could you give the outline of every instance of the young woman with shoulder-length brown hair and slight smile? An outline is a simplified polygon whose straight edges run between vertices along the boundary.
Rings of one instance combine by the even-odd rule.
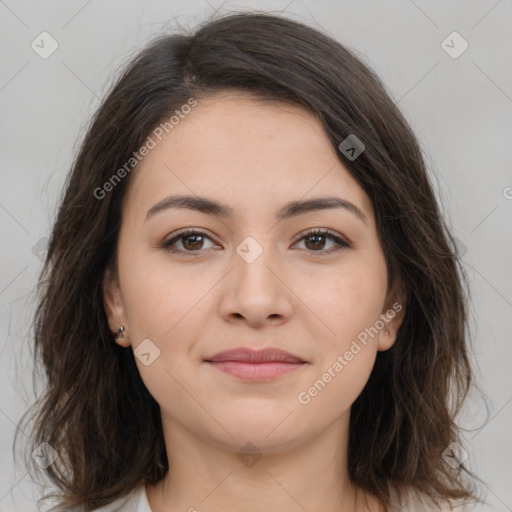
[[[472,500],[451,241],[410,127],[338,42],[248,13],[157,39],[91,123],[41,276],[55,510]]]

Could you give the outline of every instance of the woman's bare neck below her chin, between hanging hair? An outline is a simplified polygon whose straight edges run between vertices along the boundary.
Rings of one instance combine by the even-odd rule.
[[[346,470],[348,415],[314,439],[293,446],[257,443],[236,450],[207,442],[166,419],[169,471],[146,487],[152,512],[353,512],[380,509],[350,482]],[[343,435],[345,433],[345,435]],[[240,442],[244,446],[247,441]],[[256,444],[256,443],[255,443]]]

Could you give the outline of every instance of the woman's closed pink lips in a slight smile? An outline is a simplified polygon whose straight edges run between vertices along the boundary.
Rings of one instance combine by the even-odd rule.
[[[277,348],[254,350],[244,347],[220,352],[205,362],[223,373],[247,381],[271,380],[307,364],[300,357]]]

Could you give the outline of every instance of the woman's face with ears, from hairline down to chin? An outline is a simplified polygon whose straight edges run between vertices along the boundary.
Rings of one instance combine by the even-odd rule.
[[[126,328],[117,343],[134,349],[164,429],[270,452],[346,424],[401,306],[387,294],[371,201],[319,121],[219,94],[131,179],[119,284],[106,278],[104,303],[111,330]],[[171,196],[221,206],[180,207]],[[295,359],[233,360],[266,348]],[[215,357],[233,349],[247,351]]]

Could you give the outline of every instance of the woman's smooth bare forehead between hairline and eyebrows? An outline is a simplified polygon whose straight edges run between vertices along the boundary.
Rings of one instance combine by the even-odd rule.
[[[328,193],[372,216],[368,196],[311,112],[239,93],[200,100],[131,178],[124,203],[141,215],[171,193],[222,198],[245,213]]]

